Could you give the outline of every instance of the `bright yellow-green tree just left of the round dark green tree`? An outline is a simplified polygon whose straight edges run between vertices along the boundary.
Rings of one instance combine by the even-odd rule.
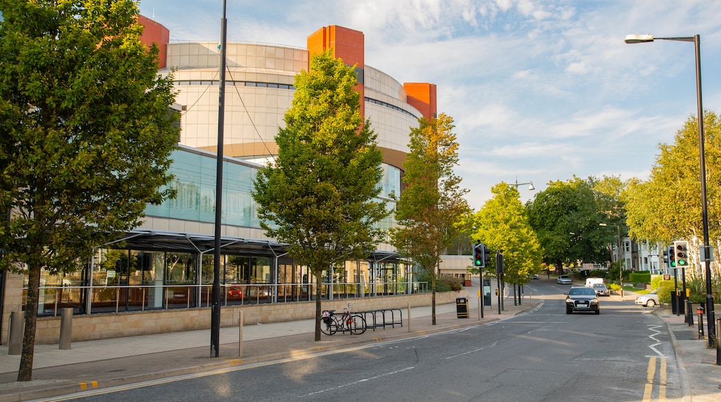
[[[541,267],[541,245],[528,223],[518,189],[500,182],[491,192],[493,197],[475,214],[473,238],[491,250],[502,251],[503,276],[523,285]]]

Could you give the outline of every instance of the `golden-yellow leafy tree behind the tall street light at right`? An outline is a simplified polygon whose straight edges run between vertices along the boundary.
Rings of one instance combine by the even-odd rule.
[[[709,216],[709,243],[721,246],[721,117],[704,112],[704,153]],[[634,180],[623,193],[627,203],[629,236],[670,244],[687,238],[698,250],[703,242],[699,131],[689,117],[673,144],[660,144],[646,181]],[[720,258],[716,254],[716,261]],[[714,262],[716,267],[717,263]],[[718,268],[715,269],[718,275]],[[698,273],[696,273],[698,274]]]

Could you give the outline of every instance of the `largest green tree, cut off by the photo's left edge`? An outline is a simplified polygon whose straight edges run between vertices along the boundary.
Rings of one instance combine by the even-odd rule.
[[[17,379],[32,379],[41,269],[68,272],[135,228],[177,147],[172,77],[135,1],[0,0],[2,269],[27,274]]]

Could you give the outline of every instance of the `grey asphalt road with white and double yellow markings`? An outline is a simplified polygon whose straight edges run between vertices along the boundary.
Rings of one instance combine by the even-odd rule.
[[[534,280],[542,303],[466,329],[310,357],[98,390],[77,401],[662,401],[681,398],[670,336],[650,309],[602,298],[565,313],[567,285]],[[513,303],[513,301],[511,301]]]

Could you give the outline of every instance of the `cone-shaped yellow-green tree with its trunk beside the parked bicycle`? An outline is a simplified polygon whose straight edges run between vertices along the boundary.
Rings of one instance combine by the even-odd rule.
[[[387,215],[379,195],[382,154],[363,124],[353,67],[329,52],[296,76],[296,94],[275,137],[278,156],[253,182],[260,225],[307,265],[316,287],[315,340],[320,340],[323,272],[361,259],[382,239]]]

